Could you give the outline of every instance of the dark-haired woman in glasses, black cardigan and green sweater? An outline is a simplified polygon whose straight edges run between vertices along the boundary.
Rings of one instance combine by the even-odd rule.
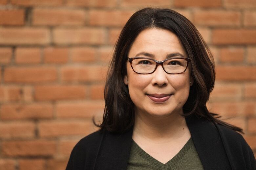
[[[214,81],[190,21],[170,9],[137,11],[116,44],[100,130],[75,145],[66,169],[255,169],[242,129],[205,106]]]

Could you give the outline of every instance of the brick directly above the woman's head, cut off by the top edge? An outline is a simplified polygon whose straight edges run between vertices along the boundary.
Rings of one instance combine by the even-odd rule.
[[[148,7],[148,6],[170,6],[169,0],[123,0],[121,7]]]

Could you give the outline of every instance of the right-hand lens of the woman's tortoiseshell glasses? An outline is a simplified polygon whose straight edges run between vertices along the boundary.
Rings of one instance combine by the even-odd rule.
[[[169,59],[163,63],[163,67],[167,73],[178,74],[185,71],[187,60],[185,59]]]

